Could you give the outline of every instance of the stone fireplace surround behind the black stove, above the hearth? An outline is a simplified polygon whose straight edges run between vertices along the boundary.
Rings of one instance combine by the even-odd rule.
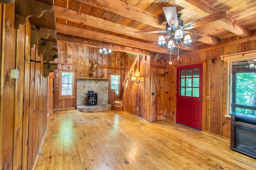
[[[98,106],[108,104],[108,79],[77,78],[76,106],[87,104],[87,92],[98,93]]]

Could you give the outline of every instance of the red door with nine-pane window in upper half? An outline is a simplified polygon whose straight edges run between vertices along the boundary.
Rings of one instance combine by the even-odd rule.
[[[202,64],[177,68],[176,122],[202,131]]]

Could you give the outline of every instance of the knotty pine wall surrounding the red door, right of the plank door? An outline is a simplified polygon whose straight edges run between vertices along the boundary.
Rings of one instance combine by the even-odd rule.
[[[216,135],[218,137],[230,138],[230,118],[227,115],[227,81],[228,81],[228,63],[221,60],[221,55],[242,53],[256,50],[256,41],[246,41],[234,44],[232,41],[238,41],[240,37],[223,39],[220,47],[206,47],[193,52],[191,55],[180,55],[172,59],[172,65],[167,66],[166,80],[169,81],[170,90],[168,95],[170,102],[167,103],[169,111],[166,118],[175,121],[176,116],[176,70],[178,66],[203,63],[203,124],[202,131]],[[230,43],[230,45],[228,45]],[[205,48],[205,47],[204,47]],[[208,49],[208,50],[207,50]],[[206,100],[210,96],[210,100]]]

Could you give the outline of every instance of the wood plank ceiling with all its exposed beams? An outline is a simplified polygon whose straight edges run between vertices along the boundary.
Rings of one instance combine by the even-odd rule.
[[[179,45],[180,53],[236,35],[250,37],[256,30],[255,0],[54,0],[57,37],[112,51],[170,54],[157,44],[166,34],[136,33],[166,30],[163,6],[176,6],[184,25],[193,25],[184,30],[192,43]],[[172,55],[177,55],[177,48]]]

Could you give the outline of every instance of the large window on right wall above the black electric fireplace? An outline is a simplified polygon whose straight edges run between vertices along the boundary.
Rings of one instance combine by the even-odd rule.
[[[230,112],[256,115],[256,59],[230,63]]]

